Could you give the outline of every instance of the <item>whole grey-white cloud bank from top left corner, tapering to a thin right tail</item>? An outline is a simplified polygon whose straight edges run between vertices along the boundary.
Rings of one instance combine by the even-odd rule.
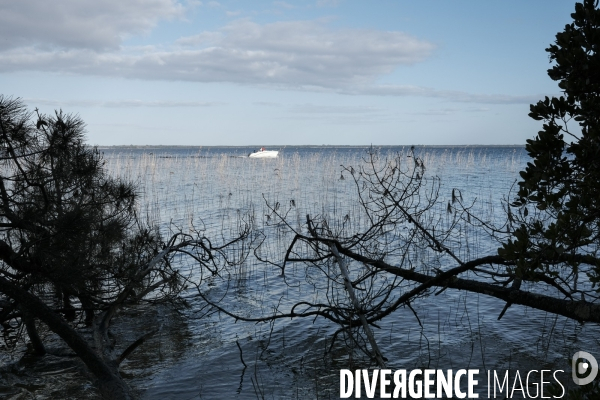
[[[476,95],[375,85],[436,46],[399,31],[331,29],[326,20],[233,21],[164,46],[125,46],[197,2],[19,0],[0,4],[0,72],[43,71],[146,80],[229,82],[281,89],[459,102],[530,103],[539,96]],[[335,5],[335,2],[323,2]]]

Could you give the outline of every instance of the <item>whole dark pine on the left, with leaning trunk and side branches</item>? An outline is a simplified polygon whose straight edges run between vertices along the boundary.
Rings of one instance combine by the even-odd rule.
[[[98,378],[105,398],[130,398],[118,366],[156,329],[117,352],[113,318],[143,301],[176,301],[190,283],[171,262],[177,253],[216,273],[235,262],[227,246],[248,230],[222,246],[199,233],[163,241],[137,217],[136,188],[108,176],[83,138],[77,116],[33,114],[0,96],[0,322],[5,331],[24,324],[38,355],[46,351],[36,325],[43,322]],[[82,314],[93,345],[77,329]]]

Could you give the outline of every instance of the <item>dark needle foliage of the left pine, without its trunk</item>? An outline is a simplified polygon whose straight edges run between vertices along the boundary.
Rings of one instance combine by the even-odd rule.
[[[158,253],[158,237],[140,227],[132,184],[108,177],[101,155],[84,144],[78,117],[36,121],[5,98],[0,107],[2,272],[36,295],[55,295],[69,319],[71,298],[79,299],[90,323],[135,266]]]

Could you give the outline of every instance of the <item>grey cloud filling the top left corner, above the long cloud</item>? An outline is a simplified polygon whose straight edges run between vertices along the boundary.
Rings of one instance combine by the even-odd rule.
[[[124,37],[183,15],[176,0],[18,0],[0,2],[0,50],[117,49]]]

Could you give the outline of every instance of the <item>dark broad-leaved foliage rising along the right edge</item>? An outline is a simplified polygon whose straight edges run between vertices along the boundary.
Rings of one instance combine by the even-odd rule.
[[[548,75],[563,95],[539,101],[529,114],[544,121],[527,141],[533,159],[521,172],[512,204],[514,235],[500,254],[518,265],[524,278],[542,272],[600,279],[600,10],[597,0],[575,5],[573,23],[546,51],[554,66]],[[589,292],[587,294],[590,294]]]

